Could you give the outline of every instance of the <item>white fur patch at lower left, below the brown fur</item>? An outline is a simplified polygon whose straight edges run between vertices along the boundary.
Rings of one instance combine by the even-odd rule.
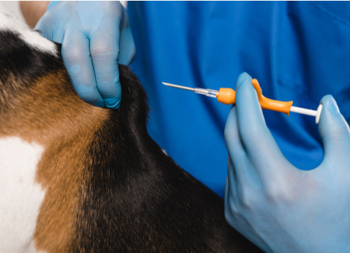
[[[0,252],[36,252],[33,235],[45,192],[35,182],[43,147],[0,138]]]

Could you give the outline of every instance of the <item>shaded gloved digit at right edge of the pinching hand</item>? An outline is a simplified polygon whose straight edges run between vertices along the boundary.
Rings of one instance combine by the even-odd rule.
[[[119,43],[118,63],[129,66],[134,60],[136,49],[134,38],[132,37],[132,30],[130,27],[129,17],[127,11],[123,7],[123,19],[120,25],[120,43]]]

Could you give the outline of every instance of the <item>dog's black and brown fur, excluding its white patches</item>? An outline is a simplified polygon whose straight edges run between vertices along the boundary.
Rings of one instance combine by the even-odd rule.
[[[60,45],[52,53],[29,42],[0,30],[0,139],[43,146],[36,251],[259,251],[225,221],[223,200],[148,135],[146,93],[130,69],[119,66],[120,109],[92,107]]]

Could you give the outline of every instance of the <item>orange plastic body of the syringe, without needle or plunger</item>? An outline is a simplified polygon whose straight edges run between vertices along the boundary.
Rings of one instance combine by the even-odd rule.
[[[292,107],[293,101],[282,102],[278,100],[270,100],[262,95],[258,80],[254,78],[251,83],[253,84],[256,93],[258,93],[258,99],[262,109],[280,111],[289,116],[290,107]],[[218,98],[218,102],[223,104],[235,104],[236,102],[236,92],[231,88],[220,88],[220,90],[216,93],[216,97]]]

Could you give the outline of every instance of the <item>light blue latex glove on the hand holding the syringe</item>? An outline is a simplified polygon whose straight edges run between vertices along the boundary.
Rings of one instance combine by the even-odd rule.
[[[239,76],[225,127],[227,221],[265,252],[349,252],[350,130],[335,100],[321,100],[323,161],[303,171],[281,153],[251,80]]]

